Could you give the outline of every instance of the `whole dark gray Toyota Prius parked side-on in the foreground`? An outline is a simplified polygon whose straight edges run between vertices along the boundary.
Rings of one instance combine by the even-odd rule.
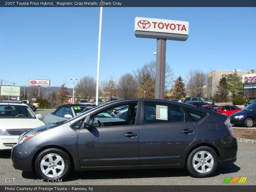
[[[112,112],[119,106],[128,106],[122,118]],[[208,177],[219,163],[235,162],[236,152],[227,116],[168,100],[125,99],[23,133],[11,157],[15,169],[46,180],[72,169],[175,167]]]

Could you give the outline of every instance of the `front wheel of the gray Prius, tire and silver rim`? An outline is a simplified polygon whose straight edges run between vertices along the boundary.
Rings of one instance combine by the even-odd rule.
[[[56,160],[58,162],[56,162]],[[52,164],[54,164],[53,168]],[[64,179],[68,176],[70,169],[71,163],[69,156],[61,149],[48,148],[43,150],[36,157],[36,174],[46,181],[53,179]]]

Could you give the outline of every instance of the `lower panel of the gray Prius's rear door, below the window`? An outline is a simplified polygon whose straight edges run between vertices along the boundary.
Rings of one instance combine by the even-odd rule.
[[[182,131],[193,133],[183,133]],[[140,126],[140,163],[178,164],[189,144],[196,138],[192,122],[144,124]]]

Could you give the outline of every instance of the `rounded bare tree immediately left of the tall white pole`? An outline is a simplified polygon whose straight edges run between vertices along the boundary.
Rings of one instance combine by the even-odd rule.
[[[90,100],[96,94],[96,80],[90,76],[84,76],[76,84],[76,94]]]

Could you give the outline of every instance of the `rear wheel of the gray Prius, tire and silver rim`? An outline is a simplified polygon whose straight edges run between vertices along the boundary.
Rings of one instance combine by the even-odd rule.
[[[204,155],[204,158],[202,155]],[[212,148],[207,146],[194,149],[189,154],[186,164],[188,172],[197,178],[211,176],[216,171],[217,166],[217,154]]]

